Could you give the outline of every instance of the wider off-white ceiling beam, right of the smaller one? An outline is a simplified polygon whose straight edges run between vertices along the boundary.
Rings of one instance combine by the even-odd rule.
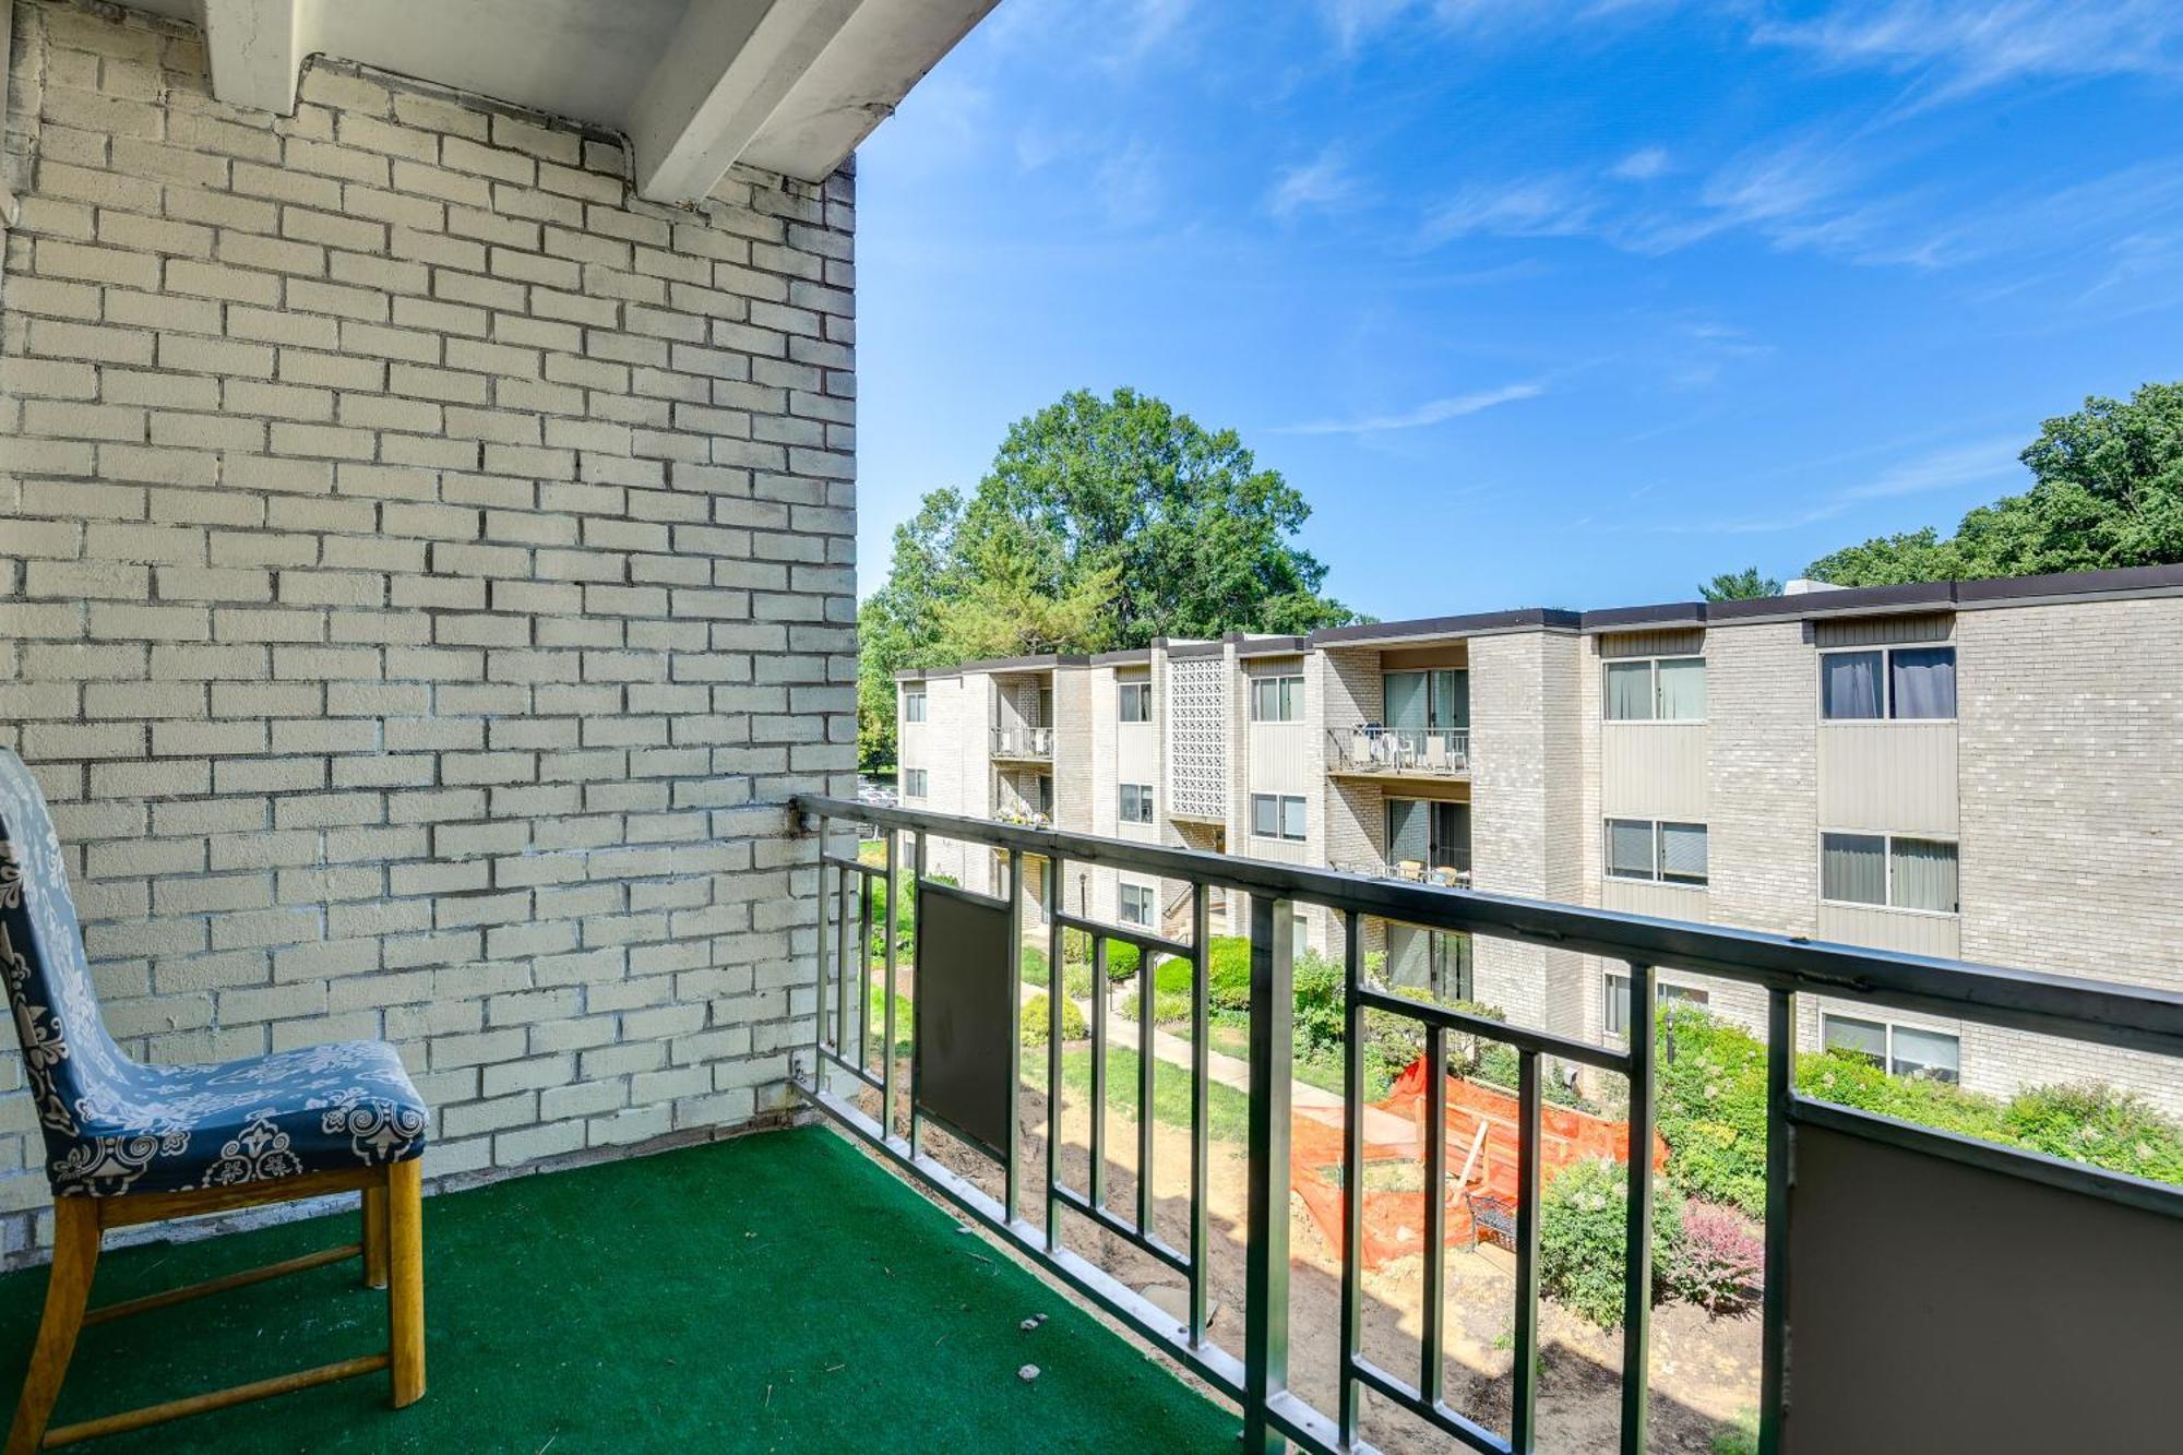
[[[629,120],[637,192],[707,197],[862,0],[692,0]]]

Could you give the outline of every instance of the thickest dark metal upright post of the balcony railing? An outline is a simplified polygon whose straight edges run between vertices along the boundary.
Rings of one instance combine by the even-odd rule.
[[[1251,896],[1251,1138],[1244,1250],[1246,1455],[1281,1455],[1268,1405],[1288,1392],[1288,1101],[1295,1060],[1295,907]]]

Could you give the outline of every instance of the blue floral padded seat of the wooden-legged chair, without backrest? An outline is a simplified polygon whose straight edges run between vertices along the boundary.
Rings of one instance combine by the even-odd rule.
[[[424,1154],[426,1103],[386,1042],[216,1066],[131,1064],[76,1108],[48,1167],[57,1195],[231,1186]]]

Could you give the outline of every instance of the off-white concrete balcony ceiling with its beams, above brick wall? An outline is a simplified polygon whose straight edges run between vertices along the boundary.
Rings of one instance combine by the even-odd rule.
[[[629,138],[637,192],[821,181],[998,0],[129,0],[205,31],[212,92],[295,111],[312,55]]]

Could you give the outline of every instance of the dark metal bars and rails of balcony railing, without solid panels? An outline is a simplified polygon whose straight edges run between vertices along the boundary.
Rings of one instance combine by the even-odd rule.
[[[1572,904],[1550,904],[1513,896],[1478,894],[1471,889],[1445,889],[1408,880],[1364,878],[1356,874],[1312,870],[1255,859],[1231,859],[1203,850],[1129,843],[1092,835],[1011,828],[985,819],[967,819],[945,813],[915,808],[875,808],[854,800],[825,795],[797,795],[795,808],[806,815],[806,828],[819,832],[821,843],[821,904],[825,894],[825,867],[838,876],[836,894],[840,904],[840,933],[834,937],[834,1036],[827,1038],[827,961],[830,920],[823,911],[819,922],[819,983],[812,1053],[814,1062],[806,1073],[801,1062],[795,1073],[797,1090],[847,1132],[862,1138],[878,1154],[893,1160],[906,1173],[932,1186],[965,1215],[1002,1237],[1015,1252],[1050,1269],[1063,1282],[1092,1298],[1107,1313],[1113,1313],[1142,1337],[1159,1346],[1172,1359],[1203,1376],[1220,1394],[1238,1400],[1244,1418],[1244,1448],[1251,1455],[1268,1455],[1286,1440],[1295,1440],[1321,1455],[1364,1455],[1371,1451],[1358,1438],[1360,1396],[1373,1389],[1384,1400],[1408,1411],[1417,1420],[1441,1431],[1456,1444],[1489,1455],[1513,1455],[1537,1446],[1537,1317],[1539,1317],[1539,1219],[1541,1219],[1541,1169],[1539,1127],[1543,1121],[1541,1077],[1543,1057],[1580,1062],[1629,1079],[1629,1147],[1626,1162],[1629,1199],[1624,1245],[1624,1330],[1622,1330],[1622,1422],[1620,1448],[1624,1455],[1639,1455],[1646,1448],[1646,1405],[1648,1405],[1648,1350],[1650,1350],[1650,1302],[1653,1302],[1653,1160],[1644,1154],[1653,1145],[1655,1127],[1655,1029],[1659,1005],[1655,998],[1655,968],[1670,966],[1722,979],[1762,985],[1768,1001],[1766,1084],[1768,1084],[1768,1132],[1766,1132],[1766,1265],[1764,1282],[1764,1352],[1762,1352],[1762,1403],[1759,1403],[1759,1448],[1775,1455],[1781,1446],[1781,1418],[1786,1400],[1786,1287],[1790,1280],[1788,1243],[1788,1136],[1794,1125],[1827,1127],[1862,1136],[1873,1143],[1893,1145],[1921,1156],[1969,1162],[2004,1175],[2041,1182],[2076,1193],[2104,1197],[2111,1202],[2146,1208],[2183,1221],[2183,1188],[2146,1182],[2124,1173],[2065,1162],[2059,1158],[1976,1143],[1945,1132],[1890,1121],[1871,1112],[1856,1112],[1823,1101],[1812,1101],[1794,1090],[1794,996],[1825,994],[1842,998],[1928,1009],[1965,1020],[2006,1025],[2037,1033],[2061,1033],[2109,1046],[2128,1046],[2163,1055],[2183,1055],[2183,994],[2122,985],[2111,981],[2076,981],[2065,977],[2035,974],[2024,970],[2000,970],[1963,961],[1925,959],[1890,950],[1862,950],[1836,944],[1812,944],[1784,935],[1762,935],[1753,931],[1731,931],[1703,924],[1681,924],[1626,915],[1605,909],[1583,909]],[[915,1090],[908,1097],[908,1136],[895,1132],[895,1086],[893,1086],[893,996],[886,1005],[884,1049],[886,1064],[880,1075],[869,1066],[869,1027],[864,1020],[864,998],[856,998],[851,1016],[849,977],[860,985],[871,983],[871,885],[882,874],[895,880],[897,850],[902,832],[886,835],[886,870],[860,865],[849,859],[825,854],[825,832],[840,819],[878,819],[891,830],[915,835],[915,885],[923,894],[926,843],[930,837],[961,839],[1006,850],[1009,891],[1006,898],[971,896],[995,907],[1006,907],[1009,944],[1022,942],[1026,918],[1022,896],[1022,867],[1026,856],[1043,859],[1048,894],[1048,963],[1057,972],[1057,990],[1048,992],[1048,1129],[1046,1129],[1046,1178],[1043,1186],[1033,1186],[1039,1195],[1043,1217],[1033,1221],[1019,1215],[1019,1193],[1024,1173],[1019,1167],[1019,1136],[1009,1138],[1006,1149],[991,1149],[1004,1167],[1004,1195],[991,1197],[969,1178],[941,1164],[921,1149],[921,1110]],[[1085,918],[1061,913],[1059,885],[1061,867],[1067,861],[1089,865],[1111,865],[1181,878],[1194,891],[1192,935],[1188,944],[1168,942],[1140,928],[1107,926]],[[856,891],[851,894],[851,880]],[[1251,1031],[1249,1031],[1249,1138],[1246,1138],[1246,1219],[1244,1219],[1244,1337],[1242,1355],[1233,1355],[1205,1335],[1205,1282],[1207,1282],[1207,900],[1216,885],[1240,889],[1251,896]],[[886,896],[886,983],[895,981],[895,933],[893,918],[897,894]],[[1362,1167],[1364,1167],[1364,1057],[1347,1057],[1343,1088],[1345,1101],[1345,1145],[1343,1145],[1343,1322],[1340,1322],[1340,1385],[1334,1413],[1316,1409],[1288,1387],[1288,1204],[1290,1204],[1290,1088],[1292,1088],[1292,935],[1290,913],[1297,902],[1325,904],[1343,920],[1345,939],[1345,1022],[1349,1046],[1364,1044],[1364,1016],[1404,1016],[1417,1022],[1425,1036],[1425,1064],[1445,1066],[1450,1036],[1476,1036],[1498,1040],[1517,1055],[1517,1208],[1515,1208],[1515,1368],[1511,1374],[1508,1435],[1500,1435],[1463,1411],[1450,1407],[1441,1387],[1441,1361],[1445,1352],[1443,1300],[1445,1289],[1445,1237],[1441,1197],[1425,1195],[1425,1317],[1419,1335],[1419,1379],[1404,1381],[1362,1352],[1360,1304],[1362,1304]],[[858,915],[860,911],[860,915]],[[1425,928],[1463,931],[1502,939],[1524,939],[1548,944],[1559,950],[1602,955],[1626,963],[1631,981],[1631,1025],[1624,1046],[1596,1046],[1541,1029],[1528,1029],[1500,1020],[1474,1016],[1452,1005],[1408,1001],[1386,994],[1367,983],[1362,972],[1364,920],[1386,918]],[[923,915],[919,915],[923,924]],[[854,928],[851,928],[854,924]],[[1120,939],[1135,944],[1144,957],[1144,979],[1150,985],[1153,955],[1172,955],[1192,966],[1192,1178],[1190,1178],[1190,1239],[1188,1247],[1174,1247],[1153,1228],[1153,1119],[1140,1116],[1137,1127],[1137,1199],[1135,1217],[1107,1206],[1105,1191],[1105,1121],[1107,1121],[1107,1046],[1109,1046],[1109,1003],[1105,994],[1092,998],[1092,1147],[1089,1186],[1074,1188],[1061,1175],[1061,1003],[1059,968],[1063,931],[1092,935],[1094,985],[1102,985],[1107,974],[1107,944]],[[851,950],[851,933],[856,948]],[[921,957],[919,957],[921,959]],[[854,968],[851,968],[854,966]],[[910,996],[917,998],[919,966],[910,963]],[[1019,1075],[1019,1025],[1022,1014],[1022,963],[1011,957],[1009,968],[1009,1123],[1019,1127],[1017,1097]],[[1153,1105],[1155,1066],[1153,1055],[1157,996],[1137,996],[1137,1097],[1144,1108]],[[919,1018],[921,1022],[921,1018]],[[851,1055],[854,1046],[854,1055]],[[847,1073],[851,1086],[880,1095],[880,1116],[873,1119],[856,1099],[840,1095],[825,1079],[832,1066]],[[915,1062],[912,1062],[915,1066]],[[1170,1066],[1170,1075],[1172,1075]],[[1447,1138],[1445,1105],[1441,1097],[1425,1099],[1425,1186],[1447,1184]],[[945,1125],[934,1116],[934,1125]],[[1116,1280],[1083,1254],[1063,1245],[1063,1210],[1089,1217],[1102,1232],[1120,1237],[1124,1243],[1146,1252],[1170,1271],[1190,1282],[1190,1311],[1177,1320],[1129,1285]]]

